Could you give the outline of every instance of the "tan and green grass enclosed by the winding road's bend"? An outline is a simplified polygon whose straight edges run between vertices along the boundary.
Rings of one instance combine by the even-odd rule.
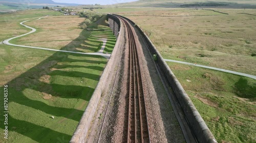
[[[37,31],[33,34],[13,39],[10,43],[70,51],[96,52],[102,46],[102,41],[99,39],[106,38],[108,40],[105,50],[107,50],[106,52],[112,52],[116,39],[110,28],[101,26],[98,28],[104,31],[82,30],[78,28],[76,23],[81,23],[83,20],[84,18],[78,16],[60,15],[28,21],[24,24],[36,28]],[[100,19],[99,22],[106,25],[104,18]],[[89,25],[89,27],[92,25]],[[62,29],[65,29],[65,31]],[[80,33],[78,38],[76,38],[77,33]],[[88,37],[88,35],[90,36]],[[69,44],[71,42],[72,45]]]

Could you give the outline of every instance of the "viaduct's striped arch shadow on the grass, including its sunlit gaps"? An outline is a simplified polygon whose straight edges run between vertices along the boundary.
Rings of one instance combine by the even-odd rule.
[[[107,34],[111,35],[109,32]],[[97,51],[102,41],[91,40],[95,45],[86,42],[93,35],[98,33],[83,30],[79,37],[61,50],[74,50],[74,47],[80,46],[81,49]],[[111,42],[114,47],[115,40]],[[29,141],[26,142],[31,139],[33,142],[68,142],[107,63],[105,58],[98,55],[52,53],[49,58],[6,83],[9,86],[9,131],[28,137]],[[3,99],[0,100],[3,103]],[[3,109],[0,111],[3,112]],[[55,119],[51,119],[51,116]],[[0,118],[1,121],[3,119]],[[1,128],[4,129],[3,124]]]

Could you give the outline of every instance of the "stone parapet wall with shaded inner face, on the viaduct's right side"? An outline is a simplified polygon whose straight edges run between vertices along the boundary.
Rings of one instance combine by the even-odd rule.
[[[120,16],[120,15],[119,15]],[[121,16],[123,17],[123,16]],[[154,44],[151,42],[151,40],[145,35],[145,33],[141,30],[141,28],[136,25],[132,20],[129,18],[123,17],[127,20],[129,20],[135,27],[138,29],[139,33],[142,35],[144,40],[146,41],[148,49],[150,49],[151,54],[157,55],[157,61],[156,64],[159,66],[159,70],[163,73],[164,77],[168,81],[168,86],[172,87],[175,96],[177,97],[179,104],[184,112],[184,115],[187,119],[187,122],[190,126],[190,129],[195,134],[198,142],[202,143],[216,143],[217,140],[215,139],[214,135],[212,135],[211,131],[205,124],[204,120],[202,119],[200,113],[196,109],[193,102],[190,100],[188,95],[186,94],[185,90],[183,89],[182,85],[172,72],[170,70],[169,66],[166,64],[164,59],[162,58],[162,55],[158,52]]]

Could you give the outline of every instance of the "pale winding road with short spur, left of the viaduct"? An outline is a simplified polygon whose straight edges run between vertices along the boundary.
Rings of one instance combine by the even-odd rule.
[[[45,16],[45,17],[47,17],[47,16]],[[41,18],[44,18],[44,17],[40,17],[40,18],[38,18],[38,19],[41,19]],[[36,19],[36,20],[38,20],[38,19]],[[77,53],[77,54],[101,55],[101,56],[104,56],[104,58],[106,58],[106,59],[109,59],[109,58],[110,58],[110,55],[111,55],[111,54],[109,54],[109,53],[102,53],[102,51],[103,51],[103,49],[104,49],[104,47],[105,47],[106,39],[103,40],[103,45],[102,45],[100,51],[98,51],[98,52],[88,52],[88,53],[86,53],[86,52],[67,51],[67,50],[57,50],[57,49],[50,49],[50,48],[43,48],[43,47],[16,45],[16,44],[11,44],[11,43],[9,43],[9,41],[12,40],[12,39],[15,39],[15,38],[18,38],[18,37],[22,37],[22,36],[25,36],[25,35],[28,35],[28,34],[31,34],[31,33],[36,32],[36,29],[35,29],[35,28],[23,24],[24,22],[27,22],[27,21],[29,21],[29,20],[20,22],[19,24],[20,24],[20,25],[23,25],[23,26],[25,26],[25,27],[27,27],[27,28],[30,28],[32,31],[30,31],[29,33],[20,35],[20,36],[16,36],[16,37],[13,37],[13,38],[9,38],[9,39],[7,39],[7,40],[4,40],[3,43],[6,44],[6,45],[17,46],[17,47],[25,47],[25,48],[33,48],[33,49],[41,49],[41,50],[49,50],[49,51],[58,51],[58,52],[69,52],[69,53]],[[101,39],[100,39],[100,40],[101,40]]]

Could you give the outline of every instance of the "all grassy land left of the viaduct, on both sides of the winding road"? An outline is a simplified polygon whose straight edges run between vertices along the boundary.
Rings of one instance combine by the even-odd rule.
[[[60,45],[58,49],[72,50],[80,42],[84,51],[96,51],[99,44],[95,46],[92,43],[91,46],[95,46],[95,49],[90,49],[91,47],[87,46],[89,44],[85,42],[87,39],[92,38],[97,41],[97,36],[111,37],[109,31],[87,31],[78,28],[84,18],[80,20],[76,16],[73,17],[75,20],[71,20],[69,16],[49,16],[35,20],[51,14],[59,13],[47,10],[28,10],[0,15],[1,31],[5,31],[8,27],[5,35],[1,35],[1,39],[30,31],[19,26],[19,22],[24,20],[31,20],[28,25],[38,28],[38,32],[30,38],[28,38],[29,35],[25,37],[28,42],[23,38],[12,42],[17,44],[34,42],[36,46],[47,47],[47,42],[44,40],[49,40],[51,44],[54,44],[54,40],[55,42],[63,40],[63,43],[58,43]],[[17,19],[12,19],[12,16]],[[68,18],[69,23],[63,18]],[[54,23],[57,25],[50,26],[53,24],[51,20],[55,20]],[[98,25],[99,28],[107,28],[104,20],[98,22]],[[112,42],[115,42],[115,39],[112,39]],[[112,44],[114,43],[110,43],[109,46],[111,47]],[[112,49],[109,48],[106,51],[111,52]],[[96,88],[106,62],[107,60],[102,56],[0,44],[0,78],[2,79],[0,91],[3,93],[3,85],[8,84],[9,93],[9,139],[4,139],[2,135],[0,142],[68,142]],[[4,104],[3,98],[0,98],[0,103]],[[3,113],[3,108],[0,112]],[[51,118],[52,116],[54,119]],[[0,120],[4,121],[3,116]],[[4,124],[1,124],[0,128],[3,131]]]

